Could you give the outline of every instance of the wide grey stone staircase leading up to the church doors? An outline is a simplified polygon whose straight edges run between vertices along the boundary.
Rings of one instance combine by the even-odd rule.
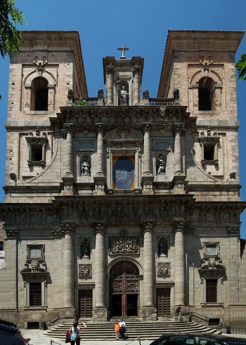
[[[155,340],[162,334],[179,333],[179,332],[202,332],[221,334],[215,328],[204,326],[196,322],[188,321],[173,321],[170,318],[163,318],[156,322],[142,322],[140,318],[124,318],[127,332],[125,338],[128,340],[136,339],[140,336],[141,340]],[[80,332],[81,341],[89,340],[115,340],[115,323],[116,319],[110,319],[106,323],[97,323],[92,321],[85,321],[87,329]],[[71,324],[57,325],[47,330],[47,335],[52,338],[64,339]]]

